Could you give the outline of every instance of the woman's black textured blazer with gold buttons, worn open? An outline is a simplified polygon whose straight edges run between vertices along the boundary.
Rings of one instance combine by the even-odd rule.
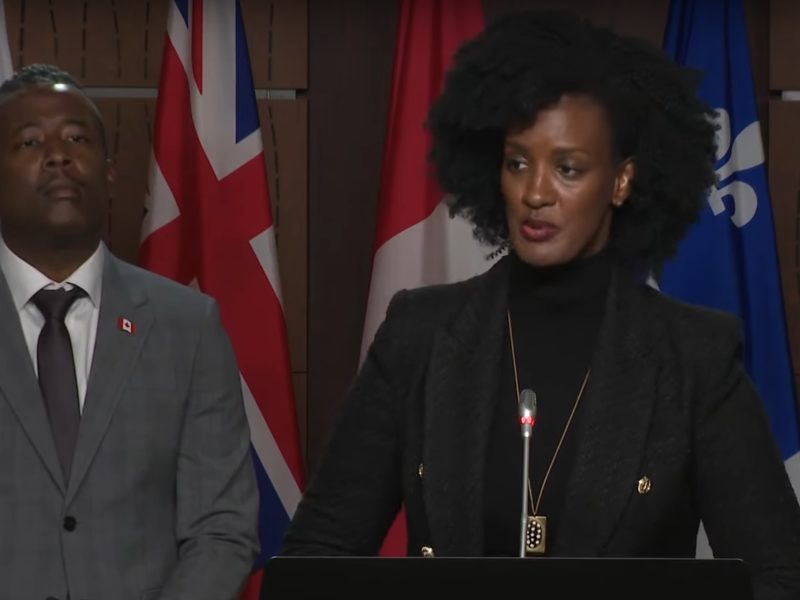
[[[393,298],[285,554],[376,554],[401,504],[410,555],[483,553],[508,278]],[[800,597],[800,508],[740,353],[734,317],[614,272],[551,554],[691,557],[702,519],[758,599]]]

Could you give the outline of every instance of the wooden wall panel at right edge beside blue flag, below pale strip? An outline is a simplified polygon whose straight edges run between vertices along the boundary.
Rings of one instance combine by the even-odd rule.
[[[769,109],[769,187],[796,389],[800,390],[800,102],[775,100]]]

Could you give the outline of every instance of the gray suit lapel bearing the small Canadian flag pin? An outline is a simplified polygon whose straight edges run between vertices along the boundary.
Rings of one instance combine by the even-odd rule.
[[[110,252],[106,253],[97,337],[67,502],[86,476],[152,324],[147,297],[140,289],[129,285],[121,273],[124,268]],[[122,330],[120,317],[135,324],[135,334]]]

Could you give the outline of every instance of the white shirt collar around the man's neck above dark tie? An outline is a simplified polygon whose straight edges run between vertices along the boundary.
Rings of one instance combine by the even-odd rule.
[[[14,306],[22,310],[31,297],[44,287],[64,287],[63,284],[77,285],[89,297],[95,307],[100,305],[103,283],[103,264],[105,263],[105,244],[100,242],[97,249],[63,282],[53,281],[31,264],[14,254],[0,236],[0,269],[5,275]]]

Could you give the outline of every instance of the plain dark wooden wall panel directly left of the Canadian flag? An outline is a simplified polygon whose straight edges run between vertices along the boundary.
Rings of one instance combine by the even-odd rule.
[[[312,466],[358,365],[398,7],[397,0],[309,2]]]

